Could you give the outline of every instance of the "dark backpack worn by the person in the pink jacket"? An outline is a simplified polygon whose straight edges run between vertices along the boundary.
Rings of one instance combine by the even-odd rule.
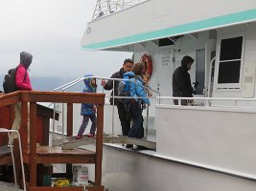
[[[17,67],[10,69],[8,71],[8,74],[5,75],[5,78],[3,81],[3,88],[4,88],[5,94],[9,94],[18,90],[16,86],[16,72],[17,72]],[[26,79],[26,76],[27,76],[27,72],[24,76],[24,80]]]

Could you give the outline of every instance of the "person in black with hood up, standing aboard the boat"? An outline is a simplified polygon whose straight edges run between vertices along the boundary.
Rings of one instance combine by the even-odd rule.
[[[173,96],[182,96],[182,97],[193,97],[195,94],[194,89],[191,86],[190,74],[188,71],[191,69],[194,59],[185,55],[181,60],[181,66],[175,70],[173,74]],[[190,100],[181,100],[181,105],[187,105]],[[174,100],[175,105],[178,104],[178,100]]]

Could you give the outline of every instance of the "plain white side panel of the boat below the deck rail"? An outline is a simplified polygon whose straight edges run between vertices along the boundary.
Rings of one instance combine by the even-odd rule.
[[[157,106],[160,155],[255,175],[255,111]]]

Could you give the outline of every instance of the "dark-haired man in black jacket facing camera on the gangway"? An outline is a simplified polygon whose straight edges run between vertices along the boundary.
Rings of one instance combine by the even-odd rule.
[[[133,61],[130,58],[125,59],[123,68],[120,69],[120,71],[114,73],[111,75],[110,78],[123,78],[123,74],[129,72],[131,70],[131,67],[133,65]],[[102,86],[105,90],[112,90],[113,89],[113,83],[114,83],[114,96],[118,96],[118,85],[120,81],[113,81],[108,80],[105,83],[105,80],[102,81]],[[113,96],[113,91],[111,93],[111,96]],[[110,97],[110,104],[113,105],[113,98]],[[118,116],[121,121],[122,126],[122,134],[123,136],[128,136],[128,132],[130,129],[130,118],[128,115],[128,111],[126,110],[125,104],[121,103],[118,98],[114,99],[114,105],[117,106],[118,110]]]

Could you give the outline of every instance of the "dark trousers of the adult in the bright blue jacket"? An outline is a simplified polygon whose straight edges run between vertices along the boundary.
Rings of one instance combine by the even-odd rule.
[[[141,104],[133,101],[129,107],[129,115],[132,118],[132,126],[128,132],[128,138],[143,138],[143,117]]]

